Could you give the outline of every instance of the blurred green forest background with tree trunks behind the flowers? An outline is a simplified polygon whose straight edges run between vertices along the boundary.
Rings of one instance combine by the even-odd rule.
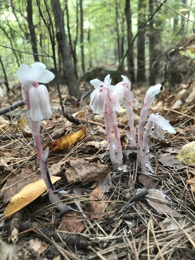
[[[80,81],[108,73],[115,83],[124,74],[137,85],[176,86],[194,75],[195,2],[163,3],[1,0],[0,79],[12,88],[20,64],[39,61],[73,96]]]

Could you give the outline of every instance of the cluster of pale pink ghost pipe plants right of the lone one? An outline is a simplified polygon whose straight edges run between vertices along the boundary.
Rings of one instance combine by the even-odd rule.
[[[131,82],[126,76],[121,76],[123,80],[111,85],[110,75],[105,77],[104,82],[94,79],[90,83],[95,87],[91,93],[90,107],[94,114],[104,113],[105,127],[107,133],[108,149],[113,166],[122,166],[122,147],[120,142],[119,129],[116,124],[116,112],[121,109],[121,105],[126,108],[126,115],[129,119],[128,126],[130,131],[126,131],[126,135],[130,141],[130,147],[136,147],[136,128],[134,126],[133,100],[134,95],[131,91]],[[176,131],[169,124],[169,121],[162,117],[159,113],[149,116],[149,109],[154,101],[156,94],[160,92],[161,84],[156,84],[148,89],[144,105],[140,111],[140,120],[138,126],[138,161],[142,167],[142,173],[153,174],[149,147],[150,135],[156,139],[164,140],[165,131],[175,134]],[[144,129],[144,126],[146,125]],[[153,129],[154,125],[154,130]]]

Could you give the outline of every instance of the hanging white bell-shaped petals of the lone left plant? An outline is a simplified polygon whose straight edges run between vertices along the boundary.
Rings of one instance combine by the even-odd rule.
[[[29,90],[29,98],[30,118],[34,122],[41,122],[42,120],[49,119],[52,116],[47,87],[44,85],[31,87]]]

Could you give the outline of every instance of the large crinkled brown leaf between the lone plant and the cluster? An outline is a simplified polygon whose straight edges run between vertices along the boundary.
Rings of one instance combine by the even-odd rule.
[[[65,176],[69,182],[104,180],[110,167],[100,158],[84,158],[70,161]]]

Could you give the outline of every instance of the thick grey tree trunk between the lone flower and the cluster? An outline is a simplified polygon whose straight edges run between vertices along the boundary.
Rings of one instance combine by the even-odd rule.
[[[71,61],[70,46],[66,38],[64,27],[64,16],[59,0],[51,0],[56,27],[56,38],[59,45],[59,52],[62,55],[63,75],[68,85],[71,96],[78,95],[78,82]]]

